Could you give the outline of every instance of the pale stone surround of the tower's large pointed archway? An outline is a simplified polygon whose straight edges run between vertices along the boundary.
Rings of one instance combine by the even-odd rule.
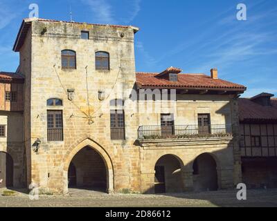
[[[73,157],[82,150],[82,148],[89,146],[94,151],[96,151],[101,157],[103,162],[105,163],[106,170],[107,170],[107,192],[113,193],[114,192],[114,166],[111,162],[111,157],[109,157],[108,153],[105,151],[102,146],[98,143],[94,142],[93,140],[87,138],[86,140],[80,142],[76,146],[72,147],[69,151],[67,151],[66,155],[64,156],[64,169],[63,169],[63,177],[64,177],[64,193],[68,192],[68,170],[69,165]]]

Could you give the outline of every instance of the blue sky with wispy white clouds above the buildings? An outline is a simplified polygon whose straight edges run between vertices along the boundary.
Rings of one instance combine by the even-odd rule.
[[[87,23],[138,26],[136,70],[161,72],[169,66],[184,73],[218,68],[219,77],[247,86],[244,97],[277,95],[277,1],[249,0],[0,0],[0,70],[15,71],[12,52],[30,3],[39,17]],[[236,6],[247,6],[247,21],[238,21]]]

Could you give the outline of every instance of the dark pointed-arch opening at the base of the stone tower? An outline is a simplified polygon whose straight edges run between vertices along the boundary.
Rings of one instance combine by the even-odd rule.
[[[69,187],[107,191],[107,168],[102,157],[90,146],[82,148],[71,160]]]

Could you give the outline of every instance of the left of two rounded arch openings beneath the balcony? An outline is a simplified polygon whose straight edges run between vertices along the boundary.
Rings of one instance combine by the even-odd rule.
[[[163,155],[155,165],[155,193],[180,193],[184,191],[181,162],[175,155]]]

